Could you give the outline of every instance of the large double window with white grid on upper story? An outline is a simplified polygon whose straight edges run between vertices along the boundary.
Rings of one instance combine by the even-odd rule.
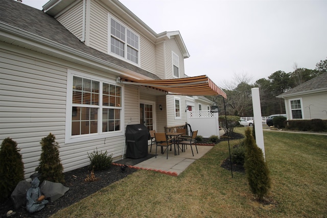
[[[139,36],[111,17],[109,23],[110,53],[138,64]]]

